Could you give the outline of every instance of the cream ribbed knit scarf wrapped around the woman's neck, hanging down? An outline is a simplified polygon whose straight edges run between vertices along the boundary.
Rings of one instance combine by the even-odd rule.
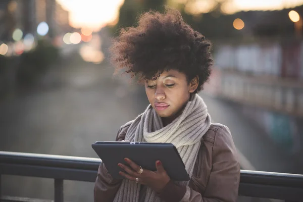
[[[200,141],[211,125],[211,118],[203,99],[193,94],[182,114],[163,127],[161,118],[149,105],[130,125],[125,139],[138,142],[172,143],[179,151],[185,169],[191,177],[197,158]],[[179,182],[188,184],[188,182]],[[115,202],[138,202],[140,184],[123,180],[114,199]],[[145,201],[161,201],[156,192],[147,188]]]

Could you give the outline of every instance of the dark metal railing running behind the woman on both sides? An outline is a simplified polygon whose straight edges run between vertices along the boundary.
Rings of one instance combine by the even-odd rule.
[[[53,178],[55,202],[63,201],[63,180],[94,182],[100,159],[0,151],[1,175]],[[239,195],[303,200],[303,175],[241,170]]]

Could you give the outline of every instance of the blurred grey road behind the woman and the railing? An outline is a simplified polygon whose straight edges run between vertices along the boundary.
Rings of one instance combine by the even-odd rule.
[[[60,85],[42,86],[0,103],[0,150],[97,158],[91,143],[114,140],[119,127],[148,104],[142,86],[113,78],[108,65],[75,62],[50,74]],[[45,78],[49,80],[49,75]],[[299,173],[297,165],[235,108],[201,96],[213,122],[232,131],[244,169]],[[53,198],[52,179],[3,176],[2,180],[5,195]],[[66,201],[92,201],[93,183],[65,181],[64,186]]]

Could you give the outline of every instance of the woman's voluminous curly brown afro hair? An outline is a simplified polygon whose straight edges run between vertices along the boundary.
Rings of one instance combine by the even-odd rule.
[[[179,11],[150,11],[139,17],[138,26],[120,31],[110,48],[111,62],[116,73],[123,69],[140,83],[170,69],[184,73],[188,82],[198,76],[197,93],[211,74],[211,45],[183,21]]]

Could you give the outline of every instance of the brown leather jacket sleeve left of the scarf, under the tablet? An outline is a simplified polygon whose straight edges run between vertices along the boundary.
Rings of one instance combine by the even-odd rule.
[[[116,141],[120,138],[121,130],[117,133]],[[121,141],[121,140],[120,140]],[[122,180],[114,179],[102,162],[98,168],[98,174],[94,185],[94,202],[112,202],[120,187]]]

